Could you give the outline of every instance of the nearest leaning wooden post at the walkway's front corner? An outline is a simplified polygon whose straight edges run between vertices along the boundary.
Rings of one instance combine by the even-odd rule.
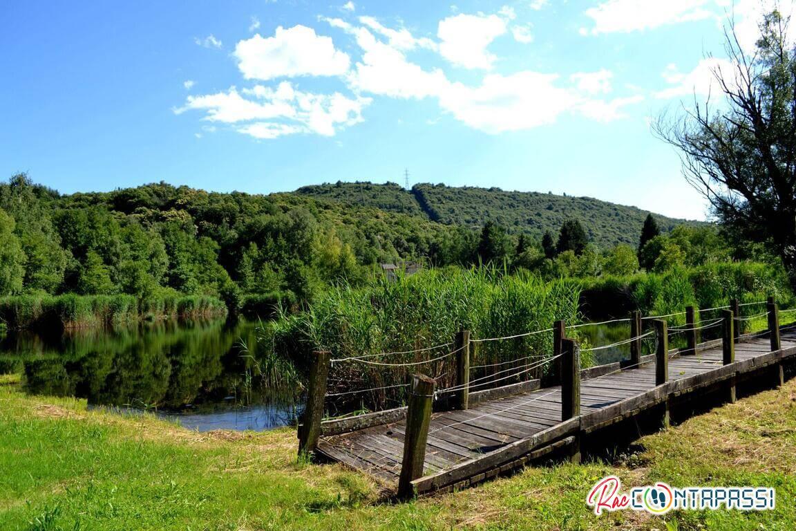
[[[433,396],[434,378],[413,374],[404,432],[404,460],[401,462],[398,480],[400,498],[413,498],[415,490],[412,488],[412,481],[423,476]]]

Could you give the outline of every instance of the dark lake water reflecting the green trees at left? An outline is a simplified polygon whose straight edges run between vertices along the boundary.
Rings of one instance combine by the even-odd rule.
[[[259,375],[252,322],[152,322],[63,334],[9,331],[0,371],[29,392],[78,396],[91,407],[146,410],[186,428],[263,430],[295,424],[298,386]]]

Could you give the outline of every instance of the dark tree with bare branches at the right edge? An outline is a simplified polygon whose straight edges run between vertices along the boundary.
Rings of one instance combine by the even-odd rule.
[[[796,289],[796,49],[787,29],[788,19],[772,11],[749,51],[729,23],[732,68],[713,71],[720,100],[695,96],[677,119],[661,115],[654,132],[677,147],[685,178],[717,220],[771,245]]]

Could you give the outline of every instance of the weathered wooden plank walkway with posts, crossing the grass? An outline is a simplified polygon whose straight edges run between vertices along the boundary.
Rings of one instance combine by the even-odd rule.
[[[768,308],[764,334],[736,334],[736,318],[725,310],[723,339],[697,344],[691,330],[681,351],[669,350],[666,324],[656,321],[656,353],[642,357],[635,344],[630,360],[590,369],[578,369],[576,342],[561,338],[561,385],[527,381],[470,392],[469,404],[457,393],[451,411],[432,413],[434,382],[416,377],[408,408],[322,422],[322,405],[320,412],[308,408],[299,439],[306,451],[372,474],[404,497],[471,486],[552,452],[577,461],[584,437],[622,420],[660,415],[665,426],[670,404],[704,392],[735,401],[743,381],[781,385],[782,364],[796,360],[796,329],[781,330],[776,306]],[[318,433],[308,442],[310,424]]]

